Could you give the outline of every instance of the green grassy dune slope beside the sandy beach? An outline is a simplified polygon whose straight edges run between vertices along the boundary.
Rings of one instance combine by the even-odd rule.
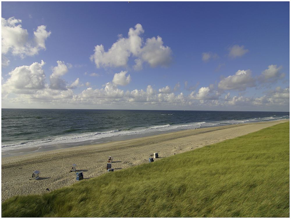
[[[289,217],[289,211],[289,122],[2,203],[2,217]]]

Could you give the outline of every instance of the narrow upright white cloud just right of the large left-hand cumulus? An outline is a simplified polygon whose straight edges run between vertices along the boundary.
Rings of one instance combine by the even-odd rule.
[[[68,67],[63,61],[57,61],[58,65],[52,68],[52,75],[49,76],[50,80],[50,89],[55,90],[67,90],[67,85],[65,80],[61,76],[65,75],[68,72]]]

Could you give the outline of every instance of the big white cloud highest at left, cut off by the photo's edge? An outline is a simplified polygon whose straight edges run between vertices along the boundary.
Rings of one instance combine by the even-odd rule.
[[[33,38],[29,39],[29,34],[26,29],[21,26],[22,21],[15,17],[10,17],[7,20],[1,18],[1,49],[2,54],[11,52],[14,56],[33,56],[38,54],[39,50],[45,50],[45,40],[51,32],[46,31],[46,26],[38,26],[33,32]]]

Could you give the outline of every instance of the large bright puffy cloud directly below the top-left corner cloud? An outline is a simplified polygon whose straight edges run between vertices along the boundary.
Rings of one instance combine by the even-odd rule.
[[[30,66],[19,66],[8,73],[10,77],[3,84],[4,92],[31,93],[32,90],[45,88],[45,62],[34,62]]]

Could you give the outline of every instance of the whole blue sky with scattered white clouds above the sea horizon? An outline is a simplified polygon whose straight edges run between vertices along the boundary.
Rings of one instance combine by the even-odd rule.
[[[2,108],[289,111],[289,2],[1,2]]]

